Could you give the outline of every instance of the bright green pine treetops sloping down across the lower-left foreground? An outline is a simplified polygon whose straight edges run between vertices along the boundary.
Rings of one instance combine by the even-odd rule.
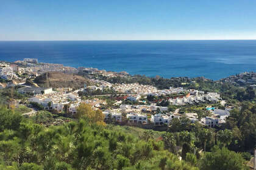
[[[43,127],[1,107],[2,169],[196,169],[163,149],[88,118]]]

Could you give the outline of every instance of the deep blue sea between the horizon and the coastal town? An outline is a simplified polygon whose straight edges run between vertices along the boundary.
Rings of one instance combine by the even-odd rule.
[[[0,60],[126,71],[149,77],[213,80],[256,71],[256,40],[228,41],[0,41]]]

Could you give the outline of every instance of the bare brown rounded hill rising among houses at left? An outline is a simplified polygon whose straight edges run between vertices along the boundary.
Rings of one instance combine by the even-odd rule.
[[[46,73],[35,78],[35,83],[41,87],[46,86]],[[84,84],[90,84],[90,81],[79,75],[62,72],[48,72],[48,81],[50,87],[83,87]]]

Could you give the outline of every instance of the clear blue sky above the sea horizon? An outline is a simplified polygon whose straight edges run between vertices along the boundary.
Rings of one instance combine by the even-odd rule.
[[[256,39],[255,0],[0,0],[0,40]]]

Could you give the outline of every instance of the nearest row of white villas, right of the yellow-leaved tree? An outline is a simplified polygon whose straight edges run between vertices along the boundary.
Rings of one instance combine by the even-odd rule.
[[[149,109],[151,111],[156,110],[155,108],[161,108],[161,109],[167,109],[167,107],[161,107],[161,106],[145,106],[145,105],[127,105],[127,104],[121,104],[120,110],[116,109],[113,111],[107,110],[104,112],[105,118],[107,118],[107,115],[112,114],[112,118],[114,120],[121,122],[122,114],[126,114],[126,118],[128,119],[128,123],[133,124],[148,124],[151,122],[155,126],[163,126],[166,124],[167,126],[171,123],[173,118],[180,118],[185,117],[188,118],[191,123],[196,123],[197,121],[201,124],[204,124],[208,127],[215,127],[218,126],[221,123],[225,123],[226,118],[229,117],[230,109],[222,110],[222,109],[215,109],[212,110],[212,116],[211,117],[205,117],[202,118],[200,121],[197,118],[196,113],[188,113],[188,114],[152,114],[151,117],[148,119],[148,116],[146,114],[140,114],[139,112],[142,110]],[[159,109],[158,109],[159,110]]]

